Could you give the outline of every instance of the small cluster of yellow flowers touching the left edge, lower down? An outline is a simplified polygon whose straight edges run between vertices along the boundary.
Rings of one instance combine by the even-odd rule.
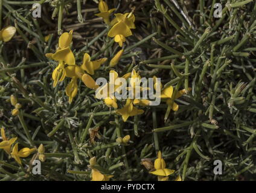
[[[18,150],[18,143],[16,143],[11,151],[11,145],[14,144],[14,142],[17,141],[18,138],[11,138],[8,139],[5,136],[4,128],[1,128],[1,136],[2,136],[2,142],[0,142],[0,149],[4,149],[4,151],[13,157],[19,165],[21,165],[21,157],[28,157],[31,153],[33,153],[36,148],[22,148],[21,150]]]

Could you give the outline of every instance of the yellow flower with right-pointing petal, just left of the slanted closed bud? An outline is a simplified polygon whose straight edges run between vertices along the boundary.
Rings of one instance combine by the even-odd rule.
[[[102,65],[104,62],[106,62],[107,58],[98,59],[95,61],[91,61],[91,57],[89,54],[85,53],[83,55],[83,64],[81,68],[88,72],[88,74],[94,75],[94,71],[98,68],[100,68],[100,65]]]

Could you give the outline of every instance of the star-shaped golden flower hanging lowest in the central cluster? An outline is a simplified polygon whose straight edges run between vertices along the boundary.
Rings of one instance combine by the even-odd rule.
[[[137,109],[132,104],[132,100],[127,99],[126,104],[122,109],[118,109],[117,113],[120,114],[123,118],[123,121],[126,122],[129,116],[141,115],[144,113],[144,110]]]

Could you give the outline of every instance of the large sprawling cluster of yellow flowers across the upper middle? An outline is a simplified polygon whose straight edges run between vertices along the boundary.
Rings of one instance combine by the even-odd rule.
[[[104,22],[110,27],[107,36],[114,37],[115,42],[117,42],[120,46],[123,46],[123,43],[126,41],[126,37],[132,35],[131,29],[135,28],[135,16],[131,13],[117,13],[115,14],[115,18],[110,22],[109,16],[115,10],[108,8],[106,2],[100,1],[98,4],[98,8],[100,13],[96,14],[99,17],[103,17]],[[83,81],[85,86],[90,89],[96,90],[99,86],[95,83],[94,78],[91,75],[95,74],[95,71],[100,68],[100,66],[107,61],[107,58],[98,59],[91,61],[91,57],[88,53],[83,55],[83,61],[81,65],[77,65],[75,62],[74,54],[70,48],[72,42],[72,33],[73,31],[69,31],[69,33],[63,33],[59,37],[59,46],[55,53],[48,53],[46,57],[49,59],[55,60],[59,63],[56,69],[54,69],[52,78],[53,78],[53,87],[56,87],[59,81],[63,81],[65,77],[71,78],[71,81],[66,86],[66,95],[69,96],[69,103],[72,102],[73,98],[77,95],[78,92],[78,78]],[[119,62],[121,55],[123,54],[124,49],[115,54],[115,56],[110,60],[109,66],[110,68],[114,68]],[[118,73],[114,70],[110,70],[110,74],[114,73],[114,83],[118,77]],[[129,72],[123,75],[122,78],[126,80],[130,79],[130,87],[127,87],[128,90],[131,90],[135,93],[136,89],[136,81],[141,81],[141,76],[138,72],[133,69],[132,72]],[[154,82],[156,83],[156,77],[154,77]],[[123,108],[118,109],[117,98],[115,98],[114,93],[117,91],[119,85],[114,85],[115,89],[111,92],[109,91],[109,84],[106,84],[107,87],[107,96],[104,98],[104,103],[107,107],[116,109],[116,112],[122,116],[123,121],[127,121],[130,116],[141,115],[144,113],[144,110],[138,109],[139,106],[149,106],[149,100],[139,100],[139,99],[127,99],[126,104]],[[160,83],[161,84],[161,83]],[[155,85],[156,86],[156,85]],[[104,87],[103,87],[104,89]],[[141,91],[142,87],[139,88]],[[162,89],[162,84],[161,84]],[[161,92],[161,98],[166,101],[169,109],[173,109],[174,111],[178,110],[178,104],[174,103],[174,100],[179,96],[183,95],[185,90],[180,90],[175,96],[173,96],[173,87],[168,86],[165,87]],[[97,95],[97,93],[95,93]]]

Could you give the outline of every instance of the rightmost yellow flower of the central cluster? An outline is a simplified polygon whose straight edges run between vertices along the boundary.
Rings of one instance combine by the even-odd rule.
[[[188,90],[191,90],[191,88],[188,88]],[[185,92],[186,92],[185,89],[179,90],[179,92],[176,93],[176,96],[173,98],[173,87],[168,86],[164,90],[162,90],[161,98],[164,98],[165,100],[167,100],[166,103],[168,104],[168,106],[170,106],[172,103],[171,109],[173,109],[174,111],[177,111],[179,109],[179,106],[174,102],[174,100],[184,95]]]

